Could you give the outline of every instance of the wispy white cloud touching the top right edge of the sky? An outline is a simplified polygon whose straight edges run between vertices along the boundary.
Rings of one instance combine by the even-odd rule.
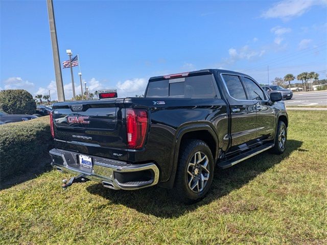
[[[314,5],[326,5],[326,0],[284,0],[276,3],[261,15],[263,18],[282,18],[288,20],[300,16]]]

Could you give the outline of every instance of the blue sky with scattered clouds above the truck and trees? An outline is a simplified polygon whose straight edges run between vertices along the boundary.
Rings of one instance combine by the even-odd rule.
[[[149,77],[239,70],[260,83],[327,69],[327,1],[56,1],[60,61],[79,53],[91,91],[142,94]],[[46,1],[1,1],[0,89],[57,97]],[[76,92],[79,69],[74,67]],[[319,78],[326,78],[320,72]],[[66,98],[69,69],[62,70]]]

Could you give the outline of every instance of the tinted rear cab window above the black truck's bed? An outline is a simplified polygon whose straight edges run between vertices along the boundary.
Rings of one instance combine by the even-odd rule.
[[[149,81],[146,97],[221,99],[213,75]]]

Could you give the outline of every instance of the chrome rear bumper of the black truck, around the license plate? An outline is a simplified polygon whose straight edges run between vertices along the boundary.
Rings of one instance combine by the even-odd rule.
[[[115,190],[149,187],[157,184],[159,180],[159,169],[154,163],[129,164],[82,154],[92,158],[93,167],[88,168],[79,165],[77,152],[52,149],[49,154],[52,157],[51,165],[62,173],[83,176]]]

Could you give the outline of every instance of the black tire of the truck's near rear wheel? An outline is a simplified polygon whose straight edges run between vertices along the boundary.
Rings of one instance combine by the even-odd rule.
[[[202,157],[203,160],[201,160]],[[196,163],[197,159],[199,159],[199,163]],[[193,175],[191,175],[190,171],[193,171]],[[173,189],[175,197],[185,204],[193,204],[203,199],[212,184],[213,176],[214,158],[209,146],[198,139],[185,141],[181,145],[178,158]],[[195,187],[192,190],[191,187],[194,185]]]

